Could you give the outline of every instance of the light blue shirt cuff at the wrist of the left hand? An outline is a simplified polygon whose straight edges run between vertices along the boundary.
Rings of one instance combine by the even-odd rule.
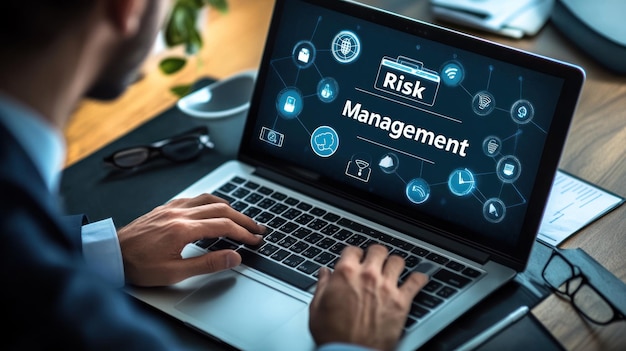
[[[82,227],[83,257],[93,270],[113,286],[124,286],[124,263],[113,219],[107,218]]]

